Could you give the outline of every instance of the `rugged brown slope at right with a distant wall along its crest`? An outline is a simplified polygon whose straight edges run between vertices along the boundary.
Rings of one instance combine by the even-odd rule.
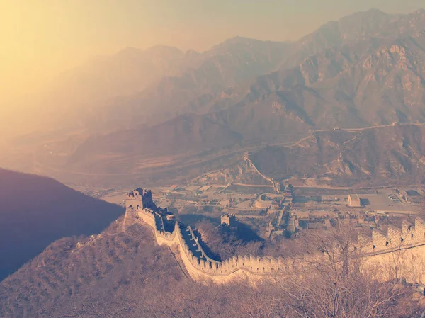
[[[261,173],[277,179],[424,183],[424,132],[424,125],[314,132],[290,147],[264,147],[251,160]]]

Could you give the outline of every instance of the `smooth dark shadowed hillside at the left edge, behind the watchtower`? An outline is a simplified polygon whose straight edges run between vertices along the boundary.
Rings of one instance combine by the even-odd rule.
[[[101,232],[123,212],[51,178],[0,169],[0,280],[55,240]]]

